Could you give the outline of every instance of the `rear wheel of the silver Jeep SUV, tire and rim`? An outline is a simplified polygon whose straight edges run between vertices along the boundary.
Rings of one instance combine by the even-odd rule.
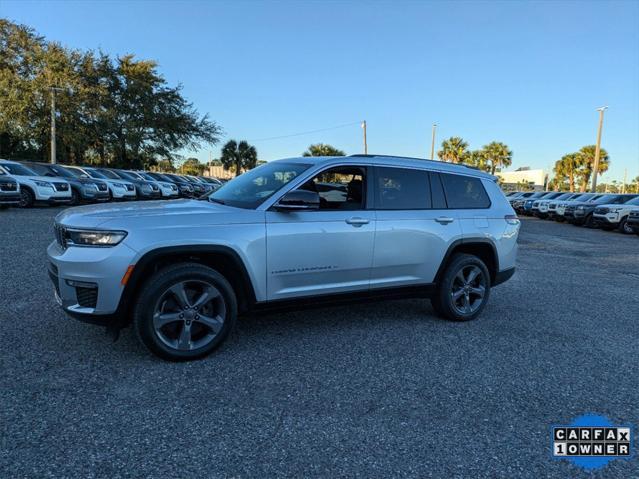
[[[482,312],[490,296],[490,274],[477,256],[455,255],[431,299],[437,314],[453,321],[470,321]]]

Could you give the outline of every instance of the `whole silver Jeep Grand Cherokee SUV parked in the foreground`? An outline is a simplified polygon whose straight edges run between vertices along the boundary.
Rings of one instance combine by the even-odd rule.
[[[237,315],[365,298],[429,297],[465,321],[515,271],[519,220],[495,178],[378,155],[292,158],[208,201],[70,208],[49,273],[64,311],[153,353],[203,357]]]

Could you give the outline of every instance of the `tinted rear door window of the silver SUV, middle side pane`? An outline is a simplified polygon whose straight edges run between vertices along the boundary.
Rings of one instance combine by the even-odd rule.
[[[375,208],[419,210],[431,207],[428,172],[407,168],[376,168]]]

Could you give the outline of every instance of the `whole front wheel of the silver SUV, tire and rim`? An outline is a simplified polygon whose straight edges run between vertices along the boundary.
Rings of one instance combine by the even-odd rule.
[[[158,271],[143,286],[133,321],[152,353],[188,361],[216,349],[236,318],[237,300],[226,278],[207,266],[182,263]]]

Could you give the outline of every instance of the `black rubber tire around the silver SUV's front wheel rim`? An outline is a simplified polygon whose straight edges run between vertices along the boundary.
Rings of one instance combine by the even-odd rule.
[[[169,288],[180,284],[205,284],[211,286],[216,292],[219,292],[219,296],[215,297],[215,301],[219,301],[224,308],[223,323],[221,324],[219,331],[213,335],[213,338],[200,347],[193,347],[192,349],[186,350],[178,349],[179,342],[181,341],[181,339],[178,338],[175,339],[176,344],[174,347],[167,345],[165,341],[170,332],[167,332],[165,335],[163,330],[158,330],[154,326],[154,313],[156,312],[158,303],[166,297],[165,295]],[[193,302],[193,299],[194,297],[192,297],[190,301]],[[170,302],[170,300],[168,302]],[[210,300],[210,302],[212,302],[212,300]],[[167,304],[167,301],[163,301],[162,308],[164,308],[165,304]],[[177,301],[175,302],[175,306],[177,306]],[[197,308],[187,309],[195,309],[197,312]],[[175,312],[176,310],[177,313]],[[174,308],[174,311],[165,314],[178,314],[181,311],[184,310],[177,307]],[[204,309],[201,309],[201,311],[204,311]],[[196,313],[191,312],[191,314]],[[202,313],[200,312],[200,314]],[[219,318],[220,316],[216,317]],[[195,346],[197,342],[207,339],[205,334],[207,331],[210,335],[210,330],[204,328],[201,321],[197,322],[198,319],[198,316],[195,316],[195,318],[192,318],[190,321],[187,319],[176,319],[170,323],[166,323],[163,328],[175,328],[174,334],[181,338],[177,330],[180,329],[180,331],[183,332],[183,330],[186,329],[186,324],[188,322],[188,345],[190,348],[192,342],[191,327],[199,327],[200,334],[204,335],[201,339],[194,341],[193,346]],[[180,263],[174,266],[169,266],[153,274],[142,286],[133,312],[134,329],[142,344],[144,344],[153,354],[169,361],[189,361],[209,355],[227,338],[236,321],[237,299],[229,282],[224,276],[214,269],[197,263]]]

